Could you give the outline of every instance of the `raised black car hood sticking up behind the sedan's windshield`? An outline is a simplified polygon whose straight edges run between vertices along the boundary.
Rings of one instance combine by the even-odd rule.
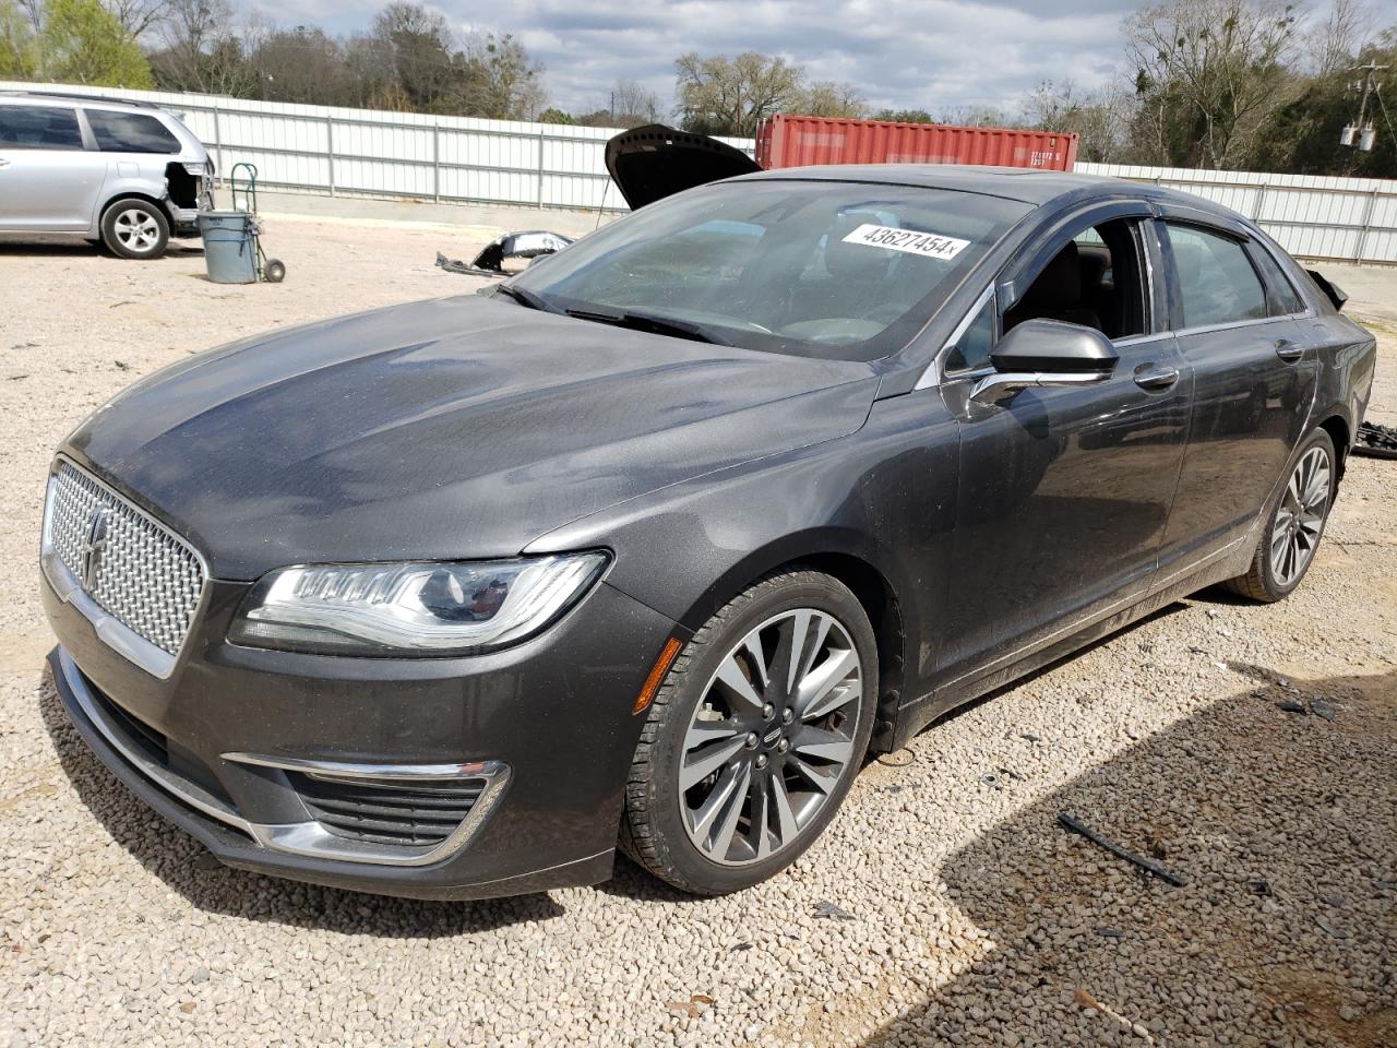
[[[634,211],[686,189],[761,168],[742,150],[705,134],[645,124],[606,143],[606,170]]]

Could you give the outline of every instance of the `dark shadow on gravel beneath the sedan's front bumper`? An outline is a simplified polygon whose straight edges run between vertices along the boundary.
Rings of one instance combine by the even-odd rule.
[[[147,808],[96,759],[68,721],[47,662],[39,689],[39,713],[63,773],[88,812],[141,866],[204,912],[400,939],[474,935],[563,914],[563,907],[542,893],[432,901],[346,891],[231,869],[197,840]]]

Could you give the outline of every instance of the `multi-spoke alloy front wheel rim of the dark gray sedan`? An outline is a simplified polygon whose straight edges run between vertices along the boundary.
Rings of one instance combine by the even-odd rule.
[[[856,760],[863,667],[833,615],[767,619],[722,660],[685,734],[685,829],[711,861],[791,847]]]

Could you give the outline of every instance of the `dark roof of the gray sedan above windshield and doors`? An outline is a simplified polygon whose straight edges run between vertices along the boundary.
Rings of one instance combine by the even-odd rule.
[[[740,175],[729,182],[802,179],[820,182],[865,182],[886,186],[921,186],[949,189],[960,193],[1017,200],[1034,207],[1051,204],[1063,197],[1146,197],[1169,200],[1199,211],[1232,217],[1232,212],[1211,201],[1187,193],[1178,193],[1150,183],[1127,182],[1106,175],[1044,170],[1041,168],[983,168],[968,163],[831,163],[812,168],[778,168],[753,175]]]

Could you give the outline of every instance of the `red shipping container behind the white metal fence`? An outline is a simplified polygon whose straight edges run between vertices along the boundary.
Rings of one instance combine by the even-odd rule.
[[[1071,170],[1077,136],[1009,127],[904,124],[828,116],[773,116],[757,130],[757,163],[986,163]]]

